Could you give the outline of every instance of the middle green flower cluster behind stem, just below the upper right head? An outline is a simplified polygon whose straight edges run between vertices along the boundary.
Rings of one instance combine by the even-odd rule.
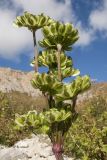
[[[71,57],[67,57],[64,52],[60,54],[60,61],[61,61],[61,73],[62,79],[70,76],[76,76],[80,74],[78,69],[73,68],[73,62]],[[39,66],[49,67],[49,74],[54,75],[57,77],[58,70],[57,70],[57,52],[56,50],[49,49],[44,50],[39,53],[38,56]],[[35,60],[31,62],[31,65],[34,66]]]

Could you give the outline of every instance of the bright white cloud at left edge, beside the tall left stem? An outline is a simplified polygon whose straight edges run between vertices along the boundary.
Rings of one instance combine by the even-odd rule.
[[[0,16],[0,55],[11,59],[21,54],[21,51],[31,44],[31,36],[25,29],[13,27],[14,12],[0,10]]]

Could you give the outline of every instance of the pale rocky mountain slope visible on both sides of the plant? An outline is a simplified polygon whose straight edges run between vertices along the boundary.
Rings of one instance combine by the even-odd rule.
[[[22,72],[11,68],[0,68],[0,91],[18,91],[31,96],[41,96],[41,92],[31,86],[30,80],[32,77],[33,71]],[[91,98],[93,95],[104,95],[107,97],[107,83],[93,83],[91,89],[78,96],[78,101]]]

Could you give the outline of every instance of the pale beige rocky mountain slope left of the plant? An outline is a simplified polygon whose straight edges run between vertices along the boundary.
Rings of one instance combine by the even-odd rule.
[[[35,90],[30,83],[33,72],[22,72],[11,68],[0,68],[0,91],[19,91],[32,96],[41,95],[39,90]]]

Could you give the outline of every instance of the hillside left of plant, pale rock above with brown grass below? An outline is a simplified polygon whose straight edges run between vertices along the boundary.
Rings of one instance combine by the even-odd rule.
[[[41,92],[31,86],[32,76],[33,72],[0,68],[0,91],[4,93],[15,112],[23,113],[33,109],[40,111],[47,106]]]

